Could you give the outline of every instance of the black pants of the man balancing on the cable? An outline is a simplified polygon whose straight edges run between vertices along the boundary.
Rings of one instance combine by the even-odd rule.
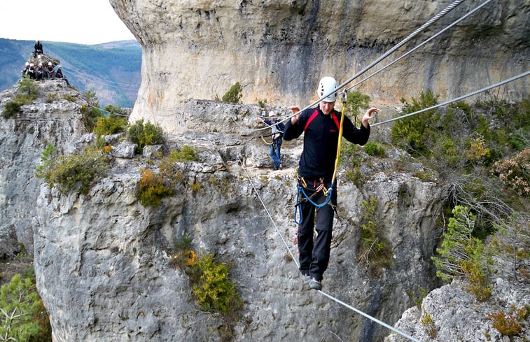
[[[311,196],[313,194],[312,185],[309,185],[305,192]],[[322,191],[312,198],[316,204],[323,204],[327,199]],[[337,204],[337,189],[333,187],[333,193],[329,204],[317,208],[309,201],[300,204],[302,213],[302,223],[298,225],[298,251],[300,252],[300,272],[309,275],[316,280],[322,280],[322,275],[328,269],[331,235],[333,230],[334,210],[330,204]],[[316,214],[316,224],[315,224]],[[316,238],[313,239],[314,230]]]

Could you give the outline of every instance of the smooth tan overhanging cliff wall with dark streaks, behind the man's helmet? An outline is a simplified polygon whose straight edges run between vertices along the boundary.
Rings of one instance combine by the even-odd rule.
[[[142,45],[142,83],[131,120],[187,129],[189,99],[221,97],[243,85],[244,103],[308,105],[321,76],[342,83],[447,7],[450,1],[110,0]],[[482,1],[464,1],[363,77],[442,30]],[[431,89],[448,100],[528,69],[524,0],[494,0],[356,90],[375,103]],[[358,80],[360,80],[359,78]],[[499,90],[511,99],[527,80]]]

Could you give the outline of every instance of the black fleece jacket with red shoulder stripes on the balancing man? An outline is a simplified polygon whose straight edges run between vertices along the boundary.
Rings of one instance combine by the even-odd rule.
[[[316,112],[316,114],[315,114]],[[337,118],[336,122],[333,115]],[[310,117],[313,117],[307,124]],[[320,108],[308,108],[300,113],[298,121],[291,124],[288,120],[284,129],[284,140],[298,138],[304,131],[304,150],[300,156],[298,174],[306,180],[319,180],[324,178],[330,182],[335,168],[337,145],[339,138],[340,112],[333,111],[325,115]],[[307,126],[307,127],[306,127]],[[342,136],[351,143],[364,145],[370,137],[370,126],[358,129],[344,116]]]

